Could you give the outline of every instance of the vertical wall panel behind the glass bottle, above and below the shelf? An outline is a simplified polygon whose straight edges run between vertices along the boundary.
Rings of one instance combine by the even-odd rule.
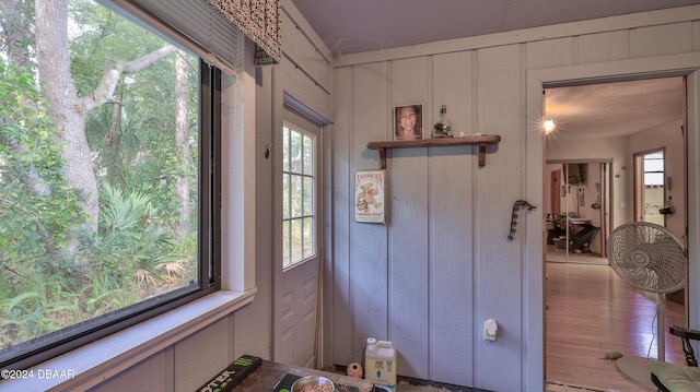
[[[471,61],[470,51],[440,55],[432,68],[433,108],[447,105],[455,131],[465,134],[472,133]],[[458,385],[474,383],[470,152],[431,149],[429,162],[430,379]]]

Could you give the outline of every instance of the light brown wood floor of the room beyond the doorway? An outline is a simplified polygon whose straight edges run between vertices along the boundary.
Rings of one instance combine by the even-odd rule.
[[[546,263],[547,390],[655,391],[604,358],[608,352],[620,352],[626,360],[657,357],[657,296],[623,282],[606,259],[570,254],[570,262],[559,260]],[[666,300],[665,320],[666,330],[670,324],[686,325],[684,306]],[[665,335],[665,360],[682,364],[679,338]]]

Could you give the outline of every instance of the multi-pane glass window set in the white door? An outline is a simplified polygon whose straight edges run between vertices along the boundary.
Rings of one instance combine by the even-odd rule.
[[[282,129],[282,266],[316,254],[316,139],[299,127]]]

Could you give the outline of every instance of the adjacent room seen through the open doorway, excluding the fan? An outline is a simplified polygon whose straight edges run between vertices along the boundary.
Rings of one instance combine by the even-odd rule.
[[[660,340],[673,342],[658,332],[656,295],[616,273],[619,261],[607,253],[607,241],[631,222],[657,224],[685,238],[685,93],[680,76],[545,92],[546,118],[553,123],[542,176],[546,373],[552,384],[656,390],[645,373],[632,381],[626,359],[600,359],[606,352],[658,357]],[[685,290],[666,298],[665,323],[686,325]],[[580,307],[591,311],[588,321],[580,320]],[[629,324],[637,325],[634,332]],[[572,345],[572,338],[585,343]],[[665,351],[666,360],[684,361],[680,345]]]

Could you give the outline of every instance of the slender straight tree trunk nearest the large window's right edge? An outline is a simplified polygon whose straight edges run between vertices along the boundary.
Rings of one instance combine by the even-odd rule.
[[[189,67],[184,52],[175,58],[175,150],[180,169],[177,175],[176,192],[179,200],[179,224],[176,228],[178,238],[185,238],[189,233],[189,181],[187,180],[189,165],[189,88],[187,76]]]

